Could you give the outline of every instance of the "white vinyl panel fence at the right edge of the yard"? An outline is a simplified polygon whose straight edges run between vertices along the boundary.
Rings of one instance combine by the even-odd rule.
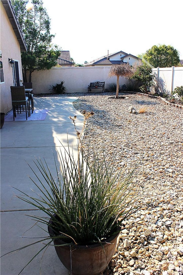
[[[153,68],[155,82],[162,93],[171,94],[176,87],[183,86],[183,67]]]

